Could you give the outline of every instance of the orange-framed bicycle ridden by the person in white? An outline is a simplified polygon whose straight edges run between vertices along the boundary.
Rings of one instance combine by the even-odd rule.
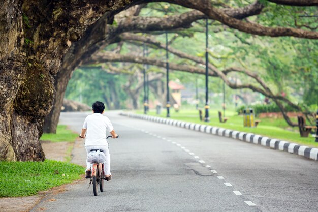
[[[110,137],[112,137],[112,136],[108,136],[106,138],[106,140]],[[119,136],[117,135],[116,138],[118,138],[118,137]],[[109,143],[108,143],[108,147],[109,147]],[[92,151],[103,152],[102,149],[91,149],[90,152],[92,152]],[[100,191],[104,192],[104,178],[105,178],[104,163],[90,163],[90,170],[91,170],[91,175],[90,175],[90,181],[89,181],[88,188],[90,187],[91,184],[93,184],[93,193],[94,193],[94,196],[97,196],[98,185],[100,185]]]

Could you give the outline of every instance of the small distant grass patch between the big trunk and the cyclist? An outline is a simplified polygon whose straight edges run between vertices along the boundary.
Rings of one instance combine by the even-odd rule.
[[[77,137],[78,134],[73,133],[71,130],[68,130],[66,125],[58,125],[56,134],[43,133],[40,140],[49,140],[51,142],[74,142]]]

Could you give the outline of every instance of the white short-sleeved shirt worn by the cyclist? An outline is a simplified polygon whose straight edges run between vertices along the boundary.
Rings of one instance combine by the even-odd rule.
[[[85,146],[105,146],[106,132],[113,131],[113,125],[109,118],[101,113],[88,115],[84,120],[83,129],[87,129]]]

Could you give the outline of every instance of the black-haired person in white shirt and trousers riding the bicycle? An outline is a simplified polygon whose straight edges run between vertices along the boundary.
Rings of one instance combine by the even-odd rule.
[[[111,179],[112,175],[110,173],[110,154],[108,150],[108,143],[106,140],[106,132],[109,131],[112,135],[112,138],[116,138],[117,134],[115,133],[113,125],[110,122],[109,118],[102,115],[105,109],[104,103],[97,101],[93,104],[92,107],[93,114],[88,115],[85,118],[80,137],[85,138],[85,148],[87,155],[91,149],[103,150],[103,153],[106,156],[106,161],[104,163],[105,179],[108,181]],[[85,178],[90,178],[90,175],[90,163],[87,162],[86,159]]]

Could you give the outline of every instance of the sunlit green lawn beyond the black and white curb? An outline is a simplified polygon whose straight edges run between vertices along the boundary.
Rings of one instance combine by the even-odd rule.
[[[137,113],[143,113],[143,111],[137,111]],[[204,111],[203,111],[204,113]],[[149,115],[155,115],[155,111],[150,110]],[[255,133],[270,138],[277,138],[280,140],[290,141],[301,145],[307,145],[310,147],[318,147],[318,143],[315,142],[315,138],[309,135],[308,138],[300,137],[298,128],[290,128],[283,118],[262,118],[261,122],[256,128],[243,127],[243,116],[237,115],[234,111],[226,111],[226,117],[229,119],[226,123],[220,123],[218,119],[217,110],[210,110],[210,123],[211,126],[222,127],[230,130],[237,130],[247,133]],[[160,117],[166,117],[166,111],[163,111]],[[204,116],[204,114],[203,114]],[[171,118],[182,120],[185,122],[206,124],[200,122],[199,112],[197,110],[180,110],[178,113],[171,110]],[[260,118],[256,118],[260,119]],[[293,120],[297,121],[297,120]],[[288,129],[288,130],[287,130]]]

